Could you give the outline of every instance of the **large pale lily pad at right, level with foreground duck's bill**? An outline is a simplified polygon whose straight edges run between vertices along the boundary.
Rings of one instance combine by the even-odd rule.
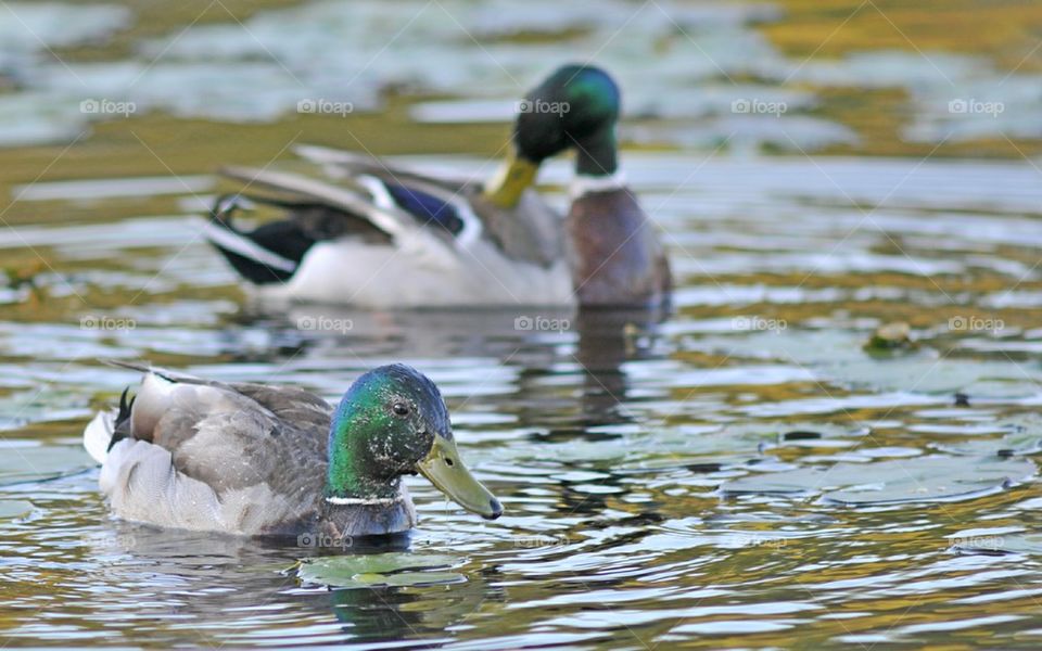
[[[930,456],[875,463],[836,463],[759,474],[724,483],[725,495],[815,495],[827,501],[869,506],[970,499],[1033,476],[1027,459]]]

